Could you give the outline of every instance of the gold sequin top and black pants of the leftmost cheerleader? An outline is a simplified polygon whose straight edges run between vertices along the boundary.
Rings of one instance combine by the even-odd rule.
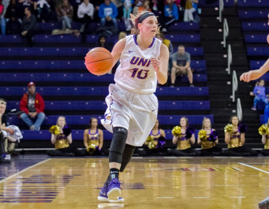
[[[47,150],[47,154],[50,156],[84,156],[82,150],[70,147],[67,136],[63,133],[57,135],[56,142],[54,144],[55,150]]]

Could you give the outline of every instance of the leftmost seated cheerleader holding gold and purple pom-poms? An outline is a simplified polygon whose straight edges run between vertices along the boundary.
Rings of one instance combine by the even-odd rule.
[[[50,128],[51,143],[55,145],[55,150],[47,150],[50,156],[84,156],[83,150],[70,147],[72,143],[71,129],[66,125],[65,117],[59,116],[56,126]]]

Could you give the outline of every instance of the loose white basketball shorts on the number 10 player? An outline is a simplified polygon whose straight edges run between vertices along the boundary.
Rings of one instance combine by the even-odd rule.
[[[106,104],[105,119],[101,120],[103,126],[111,133],[112,127],[126,128],[126,144],[142,146],[157,119],[157,97],[153,93],[139,94],[110,84]]]

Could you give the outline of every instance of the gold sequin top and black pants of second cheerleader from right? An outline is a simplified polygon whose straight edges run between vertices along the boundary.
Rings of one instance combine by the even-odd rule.
[[[255,150],[243,146],[240,141],[240,134],[239,131],[231,133],[228,150],[224,150],[223,154],[226,156],[257,156],[258,153]]]

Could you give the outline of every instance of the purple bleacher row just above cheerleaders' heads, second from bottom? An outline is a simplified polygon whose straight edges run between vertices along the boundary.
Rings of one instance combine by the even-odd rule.
[[[55,125],[57,119],[59,116],[46,116],[43,125]],[[95,117],[98,119],[98,123],[101,124],[101,119],[104,118],[103,115],[83,115],[83,116],[78,116],[78,115],[68,115],[65,116],[66,119],[66,124],[68,125],[85,125],[89,123],[89,120],[91,117]],[[174,125],[178,124],[179,120],[182,116],[179,115],[159,115],[158,120],[160,124],[162,125]],[[211,123],[214,124],[214,116],[213,115],[187,115],[185,116],[189,119],[189,124],[190,125],[200,125],[202,124],[204,117],[207,117],[211,120]],[[13,125],[24,125],[22,120],[19,120],[17,116],[10,116],[8,118],[10,124]]]

